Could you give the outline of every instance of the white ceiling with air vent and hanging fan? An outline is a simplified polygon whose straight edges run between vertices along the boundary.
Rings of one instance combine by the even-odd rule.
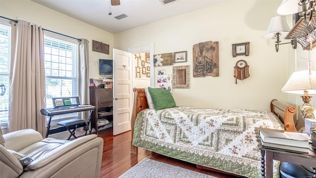
[[[112,15],[110,0],[32,1],[115,34],[226,0],[175,0],[167,4],[160,0],[120,0],[120,5],[111,6]],[[128,17],[114,18],[122,13]]]

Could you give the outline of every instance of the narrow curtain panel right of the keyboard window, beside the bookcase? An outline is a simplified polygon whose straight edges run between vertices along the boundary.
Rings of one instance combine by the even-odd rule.
[[[89,104],[89,41],[79,40],[79,100],[80,104]],[[80,112],[79,117],[87,120],[90,111]]]

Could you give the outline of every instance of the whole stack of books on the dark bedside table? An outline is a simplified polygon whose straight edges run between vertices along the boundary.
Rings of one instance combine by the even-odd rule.
[[[261,144],[264,147],[308,153],[310,136],[305,133],[260,129],[259,135],[261,138]]]

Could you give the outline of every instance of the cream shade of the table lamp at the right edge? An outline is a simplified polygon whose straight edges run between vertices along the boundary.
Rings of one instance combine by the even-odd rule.
[[[308,91],[309,94],[316,94],[316,72],[312,71],[311,74],[308,70],[293,72],[281,91],[301,95],[304,95],[304,91]]]

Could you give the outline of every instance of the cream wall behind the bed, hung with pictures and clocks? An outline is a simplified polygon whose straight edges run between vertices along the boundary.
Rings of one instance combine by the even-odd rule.
[[[155,52],[188,51],[192,69],[193,45],[219,42],[219,77],[190,77],[190,89],[173,89],[177,105],[269,110],[274,98],[284,101],[280,89],[287,80],[287,47],[275,51],[275,41],[263,40],[281,0],[229,0],[114,35],[115,48],[155,44]],[[250,42],[250,55],[232,57],[232,44]],[[250,77],[235,84],[234,66],[240,59],[250,66]],[[157,69],[155,67],[155,76]],[[165,66],[167,73],[172,66]],[[157,85],[156,85],[157,87]]]

